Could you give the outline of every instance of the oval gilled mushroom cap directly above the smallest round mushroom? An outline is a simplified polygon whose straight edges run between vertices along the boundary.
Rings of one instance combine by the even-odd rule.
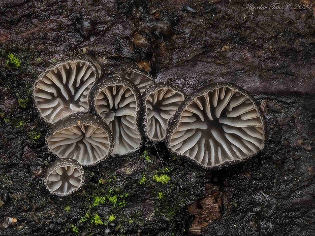
[[[60,158],[95,165],[113,150],[113,134],[106,122],[91,114],[74,114],[56,122],[46,137],[47,147]]]

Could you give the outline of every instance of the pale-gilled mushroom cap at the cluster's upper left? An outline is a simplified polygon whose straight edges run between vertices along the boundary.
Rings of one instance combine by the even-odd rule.
[[[78,112],[88,112],[89,91],[98,70],[86,59],[68,60],[50,66],[33,85],[34,104],[48,123]]]

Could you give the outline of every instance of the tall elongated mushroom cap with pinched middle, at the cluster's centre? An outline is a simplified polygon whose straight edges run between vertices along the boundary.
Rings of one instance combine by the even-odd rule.
[[[141,94],[133,82],[121,77],[105,78],[93,87],[91,102],[93,112],[101,116],[113,132],[112,155],[124,155],[141,146]]]

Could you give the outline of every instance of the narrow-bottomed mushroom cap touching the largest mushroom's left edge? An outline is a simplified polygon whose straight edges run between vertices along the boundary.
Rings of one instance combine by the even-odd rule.
[[[142,132],[148,140],[162,141],[166,128],[184,100],[181,91],[170,84],[153,84],[142,96],[143,125]]]

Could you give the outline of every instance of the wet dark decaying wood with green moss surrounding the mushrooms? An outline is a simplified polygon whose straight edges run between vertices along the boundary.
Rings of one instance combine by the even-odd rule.
[[[0,235],[315,235],[315,6],[250,3],[269,9],[234,0],[1,1]],[[243,87],[267,104],[265,149],[206,171],[146,144],[86,169],[78,192],[48,194],[41,176],[56,157],[32,85],[49,65],[82,54],[106,75],[136,63],[187,94],[213,81]]]

